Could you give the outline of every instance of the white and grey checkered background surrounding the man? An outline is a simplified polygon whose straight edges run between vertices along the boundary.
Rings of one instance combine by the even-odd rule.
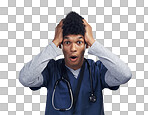
[[[148,115],[148,0],[0,0],[0,114],[44,114],[46,89],[23,87],[19,71],[52,41],[56,25],[72,10],[133,74],[119,90],[103,91],[105,115]],[[85,56],[98,60],[87,50]]]

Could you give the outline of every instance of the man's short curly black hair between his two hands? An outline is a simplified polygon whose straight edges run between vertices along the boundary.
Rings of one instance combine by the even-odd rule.
[[[66,18],[63,19],[63,38],[64,36],[74,34],[83,35],[85,34],[85,25],[83,24],[83,17],[76,12],[71,11],[67,14]]]

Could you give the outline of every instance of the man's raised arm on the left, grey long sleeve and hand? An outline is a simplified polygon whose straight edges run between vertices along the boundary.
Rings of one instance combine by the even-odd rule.
[[[62,21],[58,24],[55,31],[55,37],[45,49],[43,49],[30,62],[24,65],[19,73],[19,81],[25,87],[39,87],[43,84],[43,76],[41,72],[47,63],[61,54],[58,48],[62,42]]]

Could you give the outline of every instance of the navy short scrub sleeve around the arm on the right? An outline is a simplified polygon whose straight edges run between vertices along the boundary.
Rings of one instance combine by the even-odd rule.
[[[104,88],[108,88],[110,90],[117,90],[120,87],[120,85],[118,85],[118,86],[109,86],[106,83],[105,74],[106,74],[108,69],[103,65],[103,63],[101,61],[97,61],[96,65],[99,67],[99,75],[100,75],[100,82],[101,82],[102,90]]]

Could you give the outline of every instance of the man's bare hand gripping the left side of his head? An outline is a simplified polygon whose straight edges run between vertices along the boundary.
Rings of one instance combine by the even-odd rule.
[[[53,43],[58,47],[61,48],[61,43],[63,41],[63,20],[60,21],[60,23],[57,25],[56,29],[55,29],[55,36],[53,39]]]

